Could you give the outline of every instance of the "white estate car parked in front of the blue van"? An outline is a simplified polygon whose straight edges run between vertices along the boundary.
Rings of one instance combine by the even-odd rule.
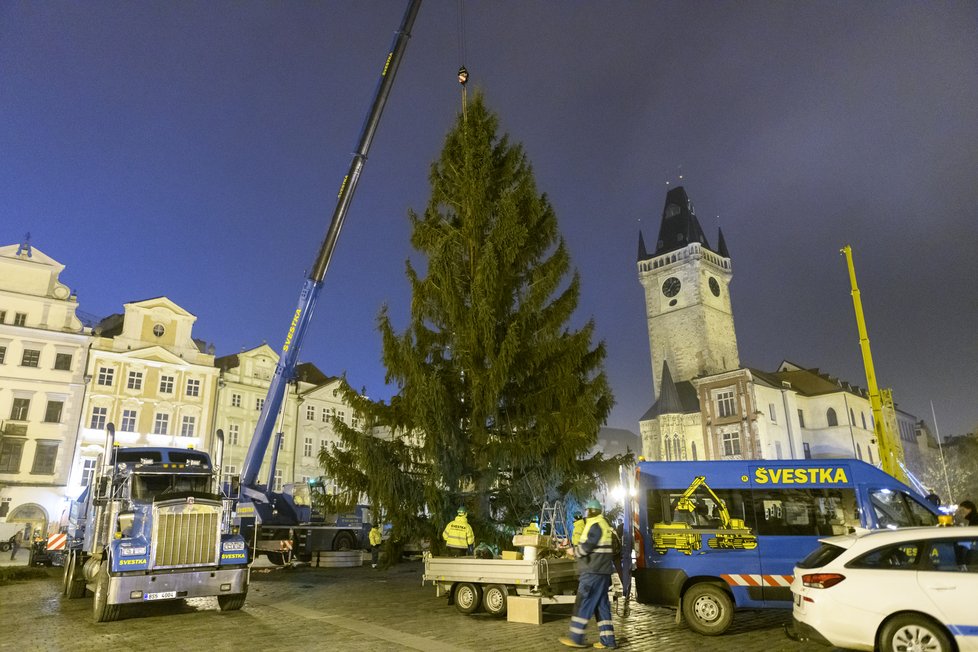
[[[856,650],[978,650],[978,526],[822,539],[795,566],[794,636]]]

